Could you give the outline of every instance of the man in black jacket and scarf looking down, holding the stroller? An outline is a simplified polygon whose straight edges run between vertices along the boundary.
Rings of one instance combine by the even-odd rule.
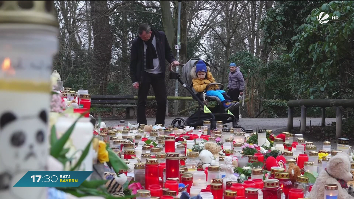
[[[150,84],[157,102],[155,124],[165,125],[166,113],[166,64],[165,59],[175,66],[179,64],[162,31],[140,24],[139,36],[133,40],[130,53],[130,77],[133,87],[138,89],[137,118],[139,124],[147,124],[145,106]]]

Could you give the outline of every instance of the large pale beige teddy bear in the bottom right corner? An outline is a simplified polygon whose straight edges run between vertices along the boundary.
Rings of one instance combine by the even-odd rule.
[[[309,194],[311,199],[322,199],[325,193],[325,184],[338,185],[338,199],[354,198],[348,193],[347,182],[352,180],[353,175],[350,173],[350,160],[346,153],[338,153],[331,157],[327,163],[327,167],[317,177],[315,184]]]

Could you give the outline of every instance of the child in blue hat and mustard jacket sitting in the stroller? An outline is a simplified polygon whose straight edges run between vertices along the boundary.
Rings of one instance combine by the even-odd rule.
[[[203,92],[208,84],[216,82],[210,72],[210,68],[202,60],[199,60],[195,67],[192,68],[190,76],[193,78],[193,88],[196,92]],[[239,107],[239,103],[232,102],[228,93],[220,90],[218,85],[209,86],[206,95],[218,97],[225,111]]]

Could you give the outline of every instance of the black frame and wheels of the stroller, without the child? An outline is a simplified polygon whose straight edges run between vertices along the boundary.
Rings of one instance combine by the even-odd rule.
[[[190,64],[192,61],[196,62],[196,61],[199,61],[199,60],[202,60],[202,59],[192,58],[187,63]],[[185,73],[190,72],[190,70],[188,70],[187,68],[184,68],[186,64],[179,64],[179,66],[183,67],[182,70],[187,70],[187,71],[185,71]],[[206,63],[206,64],[207,64],[207,66],[209,66],[208,63]],[[194,119],[197,118],[196,122],[188,122],[188,119],[185,120],[182,117],[178,117],[178,118],[175,118],[172,121],[172,123],[171,123],[172,126],[178,127],[179,129],[183,129],[185,126],[193,126],[194,128],[196,128],[197,126],[203,126],[203,121],[209,120],[211,122],[211,130],[214,130],[214,129],[216,129],[216,118],[218,120],[222,121],[223,124],[232,122],[233,126],[238,125],[237,122],[235,121],[235,116],[232,115],[232,114],[228,114],[228,113],[212,113],[212,112],[211,113],[204,113],[204,111],[202,111],[201,108],[202,107],[204,108],[206,105],[204,104],[204,102],[192,90],[193,89],[193,87],[192,87],[193,84],[191,82],[190,82],[189,85],[187,85],[188,83],[185,84],[181,80],[181,75],[179,75],[178,73],[176,73],[176,72],[174,72],[172,70],[172,66],[173,66],[173,64],[170,65],[170,79],[178,80],[178,82],[181,83],[185,89],[187,89],[187,91],[190,93],[190,95],[192,95],[192,98],[195,99],[198,102],[198,111],[196,113],[194,113],[193,115],[189,116],[189,118],[188,118],[188,119],[190,119],[191,117],[194,117]],[[193,66],[190,66],[190,65],[188,66],[187,65],[186,67],[193,67]],[[188,78],[186,78],[186,81],[188,82]],[[222,85],[220,83],[211,83],[211,84],[207,85],[207,88],[209,86],[211,86],[211,85],[219,85],[219,86],[221,86],[221,90],[224,87],[224,85]],[[222,106],[220,104],[220,100],[218,98],[216,98],[216,97],[206,97],[206,98],[209,99],[209,101],[217,101],[217,105],[216,106]],[[204,119],[201,119],[202,116],[204,116]],[[243,127],[241,127],[241,128],[242,128],[242,130],[244,130]]]

